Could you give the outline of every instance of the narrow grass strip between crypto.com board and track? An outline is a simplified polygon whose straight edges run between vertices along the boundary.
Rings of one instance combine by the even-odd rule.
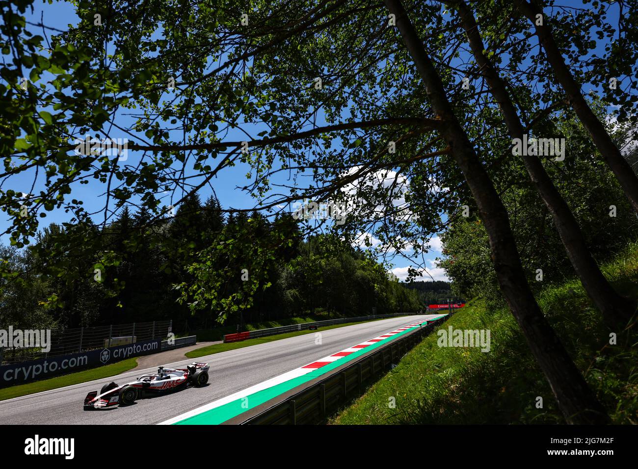
[[[119,375],[119,373],[124,373],[124,371],[133,369],[136,366],[137,358],[129,358],[121,362],[100,366],[99,368],[85,369],[84,371],[77,371],[75,373],[69,373],[68,375],[56,376],[56,378],[48,378],[47,380],[34,381],[33,383],[0,389],[0,401],[26,396],[27,394],[34,394],[35,392],[50,391],[51,389],[57,389],[59,387],[108,378],[108,376]]]

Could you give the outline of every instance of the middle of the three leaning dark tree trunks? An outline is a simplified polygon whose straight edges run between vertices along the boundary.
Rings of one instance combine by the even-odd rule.
[[[491,93],[501,108],[501,114],[503,114],[511,137],[523,140],[525,133],[523,124],[507,93],[505,81],[483,52],[485,47],[473,12],[463,0],[450,2],[450,6],[456,6],[459,11],[459,17],[461,17],[463,29],[468,36],[472,53],[480,66],[482,75],[486,78]],[[602,274],[596,261],[591,257],[572,211],[554,186],[540,159],[537,156],[521,156],[521,158],[530,175],[531,182],[552,215],[554,225],[556,225],[560,239],[567,251],[567,256],[591,301],[602,313],[605,323],[611,329],[624,329],[635,312],[636,303],[619,295]]]

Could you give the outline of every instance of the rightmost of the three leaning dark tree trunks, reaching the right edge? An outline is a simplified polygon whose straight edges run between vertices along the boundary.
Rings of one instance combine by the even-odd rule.
[[[554,70],[556,80],[567,94],[570,105],[574,109],[574,112],[581,120],[582,125],[588,131],[596,145],[600,154],[602,154],[607,165],[611,168],[612,172],[616,175],[618,182],[620,182],[625,196],[628,198],[630,204],[634,208],[634,211],[638,212],[638,177],[630,167],[627,160],[623,158],[620,150],[614,144],[609,133],[605,129],[605,126],[598,120],[596,114],[593,113],[585,98],[581,93],[581,86],[576,82],[572,76],[571,71],[563,56],[558,50],[558,45],[554,41],[551,27],[547,24],[547,17],[543,15],[542,8],[539,8],[534,0],[530,3],[525,0],[515,0],[517,8],[525,15],[536,28],[536,34],[540,43],[542,43],[545,50],[545,57]],[[543,25],[537,26],[537,15],[543,15]]]

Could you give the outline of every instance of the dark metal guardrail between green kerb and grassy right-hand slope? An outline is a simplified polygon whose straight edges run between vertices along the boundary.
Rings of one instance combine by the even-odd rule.
[[[455,311],[456,312],[456,311]],[[366,386],[396,364],[413,346],[432,332],[450,315],[420,327],[407,336],[396,339],[365,355],[329,377],[303,391],[272,405],[241,423],[249,425],[303,425],[318,424],[353,398],[365,391]]]

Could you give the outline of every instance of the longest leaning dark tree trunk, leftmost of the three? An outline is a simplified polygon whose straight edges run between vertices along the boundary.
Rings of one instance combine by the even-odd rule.
[[[454,115],[441,79],[401,1],[384,1],[390,13],[394,13],[396,17],[396,25],[426,86],[434,112],[446,124],[441,129],[441,136],[450,146],[479,207],[480,218],[489,237],[492,260],[501,291],[556,396],[561,412],[570,424],[609,423],[605,409],[591,392],[538,308],[521,266],[507,211],[473,145]]]

